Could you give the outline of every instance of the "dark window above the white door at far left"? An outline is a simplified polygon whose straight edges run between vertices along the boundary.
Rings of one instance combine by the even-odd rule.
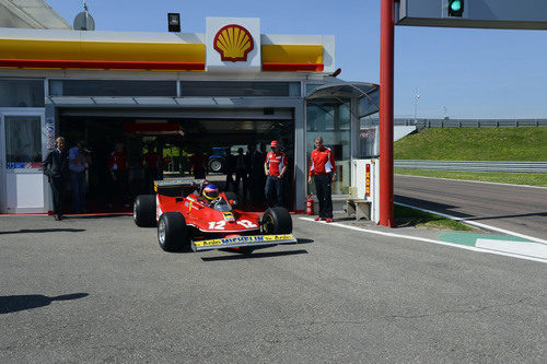
[[[0,80],[0,107],[44,107],[43,80]]]

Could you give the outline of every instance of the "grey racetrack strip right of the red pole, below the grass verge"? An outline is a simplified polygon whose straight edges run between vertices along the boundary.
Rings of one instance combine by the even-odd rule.
[[[396,175],[395,201],[547,239],[547,188]]]

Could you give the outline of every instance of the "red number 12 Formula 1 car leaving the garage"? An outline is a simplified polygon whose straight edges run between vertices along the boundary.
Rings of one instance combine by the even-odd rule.
[[[237,209],[235,193],[217,191],[209,196],[208,186],[211,184],[207,180],[188,178],[154,181],[156,195],[141,195],[135,200],[135,223],[141,227],[158,225],[158,240],[165,251],[234,248],[251,253],[296,243],[287,209],[271,208],[261,215],[244,212]]]

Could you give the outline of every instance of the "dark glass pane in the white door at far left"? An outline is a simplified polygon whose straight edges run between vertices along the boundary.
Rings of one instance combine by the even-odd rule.
[[[42,162],[42,133],[39,116],[7,116],[5,162]],[[39,166],[35,166],[39,167]]]

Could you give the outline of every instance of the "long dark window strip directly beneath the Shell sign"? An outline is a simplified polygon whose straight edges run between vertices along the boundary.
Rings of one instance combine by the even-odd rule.
[[[183,81],[182,96],[291,96],[300,97],[299,82]]]

